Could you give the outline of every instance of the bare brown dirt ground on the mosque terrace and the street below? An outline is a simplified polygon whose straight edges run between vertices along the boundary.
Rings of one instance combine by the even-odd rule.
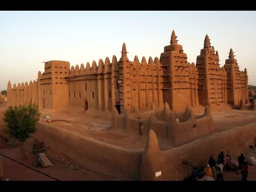
[[[3,111],[5,106],[0,106],[0,130],[3,128]],[[203,111],[203,110],[202,110]],[[134,138],[134,137],[124,137],[122,135],[110,133],[111,118],[109,117],[98,117],[96,113],[85,114],[82,108],[69,107],[69,111],[53,112],[50,110],[42,110],[42,118],[45,115],[50,115],[50,117],[55,120],[51,123],[53,126],[58,126],[61,129],[66,129],[69,131],[77,132],[85,137],[90,137],[92,139],[107,142],[111,145],[116,145],[126,149],[134,150],[144,150],[146,147],[146,139]],[[203,113],[203,112],[202,112]],[[95,115],[94,115],[95,114]],[[225,131],[237,126],[243,126],[256,121],[255,111],[239,111],[239,110],[222,110],[215,111],[212,113],[214,127],[217,132]],[[48,122],[44,122],[48,124]],[[31,151],[34,143],[34,139],[30,138],[26,141],[26,150]],[[100,173],[94,173],[88,170],[84,170],[81,166],[75,165],[74,159],[69,159],[61,153],[56,151],[51,151],[50,146],[47,148],[46,143],[46,154],[55,160],[52,160],[53,166],[50,167],[34,167],[33,164],[36,161],[36,156],[32,153],[27,152],[29,159],[27,161],[22,160],[20,150],[8,145],[19,147],[19,142],[16,140],[9,139],[6,142],[4,148],[0,149],[0,153],[15,159],[18,162],[26,164],[27,166],[37,170],[42,171],[45,174],[50,175],[52,178],[58,180],[118,180],[116,178],[108,177],[107,175],[102,175]],[[165,141],[159,140],[159,146],[161,150],[167,150],[172,148]],[[256,156],[255,149],[248,148],[245,151],[245,157]],[[231,157],[237,159],[240,154],[236,157]],[[20,165],[11,161],[10,159],[2,156],[2,161],[4,165],[4,178],[10,180],[54,180],[42,173],[38,173],[34,170],[29,169],[26,166]],[[63,162],[63,163],[62,163]],[[206,162],[207,164],[207,162]],[[256,180],[256,167],[249,167],[248,180]],[[242,174],[236,174],[235,171],[225,172],[223,171],[223,178],[226,181],[239,181],[242,179]]]

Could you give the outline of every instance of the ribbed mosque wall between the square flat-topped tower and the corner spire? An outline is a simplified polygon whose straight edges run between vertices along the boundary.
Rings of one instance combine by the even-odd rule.
[[[78,65],[76,68],[72,66],[68,78],[69,105],[85,108],[87,102],[88,109],[111,111],[115,105],[112,98],[119,98],[119,93],[115,90],[115,85],[113,86],[116,83],[115,78],[118,77],[116,72],[119,71],[116,65],[114,56],[112,63],[106,58],[105,65],[100,59],[99,66],[95,61],[92,67],[87,62],[85,69],[83,64],[80,69]]]

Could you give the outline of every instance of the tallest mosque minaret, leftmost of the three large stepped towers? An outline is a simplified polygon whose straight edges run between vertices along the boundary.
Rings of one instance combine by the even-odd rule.
[[[173,30],[170,45],[164,47],[160,63],[163,70],[163,103],[167,102],[173,111],[182,112],[191,104],[191,94],[187,76],[187,54],[177,41]]]

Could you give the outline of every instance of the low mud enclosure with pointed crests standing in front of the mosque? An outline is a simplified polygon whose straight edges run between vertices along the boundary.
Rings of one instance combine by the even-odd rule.
[[[177,119],[179,123],[177,123]],[[185,113],[173,113],[168,103],[164,110],[158,111],[151,103],[150,111],[140,112],[136,107],[125,115],[119,115],[114,109],[111,119],[111,132],[132,135],[134,137],[148,137],[149,130],[155,131],[158,138],[167,140],[171,146],[180,146],[191,140],[213,133],[213,119],[208,106],[204,115],[194,115],[189,106]]]

